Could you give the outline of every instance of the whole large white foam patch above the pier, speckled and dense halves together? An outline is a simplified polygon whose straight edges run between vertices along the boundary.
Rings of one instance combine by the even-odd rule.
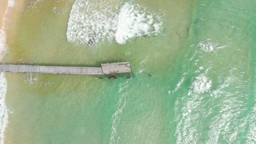
[[[161,25],[160,16],[138,4],[77,0],[69,15],[66,34],[67,40],[77,45],[96,45],[104,39],[125,44],[131,38],[158,34]]]

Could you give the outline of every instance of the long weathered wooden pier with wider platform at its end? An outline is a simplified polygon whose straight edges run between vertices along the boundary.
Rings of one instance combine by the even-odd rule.
[[[43,74],[81,74],[107,75],[132,73],[130,62],[101,64],[101,67],[56,67],[42,65],[1,64],[0,72],[10,73],[43,73]]]

